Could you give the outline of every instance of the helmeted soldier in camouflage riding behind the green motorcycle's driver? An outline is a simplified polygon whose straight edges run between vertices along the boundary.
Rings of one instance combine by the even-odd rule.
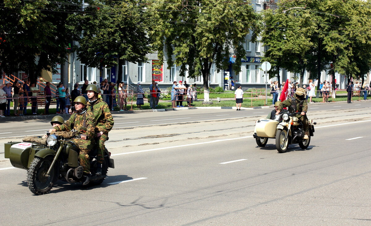
[[[103,102],[98,98],[98,87],[94,84],[88,85],[86,87],[86,93],[88,94],[88,111],[92,112],[95,117],[95,137],[99,139],[98,141],[98,170],[96,175],[102,175],[102,163],[104,156],[104,143],[108,140],[108,132],[111,131],[114,126],[114,119],[109,111],[109,107],[106,102]]]

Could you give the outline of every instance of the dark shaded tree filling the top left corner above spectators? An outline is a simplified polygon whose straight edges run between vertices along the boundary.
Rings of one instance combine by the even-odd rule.
[[[0,70],[7,74],[24,71],[31,82],[36,82],[42,69],[55,72],[56,64],[65,62],[72,38],[66,22],[80,5],[63,0],[2,3],[0,37],[6,41],[0,44]]]

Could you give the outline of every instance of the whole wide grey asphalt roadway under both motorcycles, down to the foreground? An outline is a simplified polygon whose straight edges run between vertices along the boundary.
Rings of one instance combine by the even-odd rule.
[[[0,224],[370,225],[371,104],[361,104],[312,109],[319,124],[309,148],[292,145],[283,154],[273,140],[259,148],[252,138],[254,113],[272,109],[119,115],[125,118],[115,122],[134,122],[135,115],[148,124],[173,117],[209,121],[111,131],[107,147],[116,168],[88,189],[59,181],[50,194],[35,196],[26,171],[0,160]]]

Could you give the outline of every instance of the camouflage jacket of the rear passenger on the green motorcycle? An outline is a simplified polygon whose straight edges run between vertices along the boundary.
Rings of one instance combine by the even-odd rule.
[[[114,126],[114,118],[109,111],[108,104],[98,98],[95,102],[87,102],[88,111],[92,112],[95,118],[95,132],[108,133]]]

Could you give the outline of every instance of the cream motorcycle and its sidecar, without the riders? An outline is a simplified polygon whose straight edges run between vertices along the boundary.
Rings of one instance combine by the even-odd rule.
[[[316,122],[308,119],[309,138],[303,139],[305,132],[301,121],[289,111],[280,112],[274,120],[262,118],[256,121],[253,137],[259,147],[264,147],[268,138],[276,141],[276,149],[279,153],[285,153],[289,144],[299,144],[302,149],[306,149],[313,137]]]

